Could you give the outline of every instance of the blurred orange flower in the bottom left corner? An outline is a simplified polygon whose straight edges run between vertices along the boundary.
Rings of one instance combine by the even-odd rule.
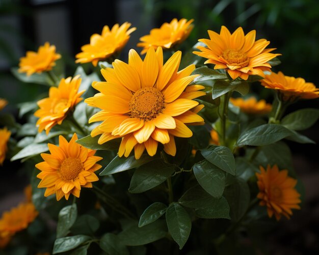
[[[0,219],[0,235],[2,238],[10,237],[16,232],[28,228],[38,216],[32,203],[22,203],[10,211],[4,212]]]

